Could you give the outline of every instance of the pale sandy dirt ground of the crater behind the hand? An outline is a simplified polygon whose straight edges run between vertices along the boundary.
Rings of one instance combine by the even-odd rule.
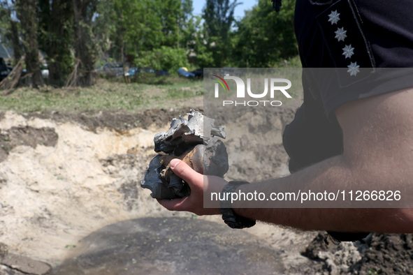
[[[216,114],[226,179],[288,174],[281,133],[299,104]],[[412,235],[327,245],[325,232],[230,230],[218,216],[162,209],[140,177],[154,134],[189,109],[0,114],[0,274],[413,273]]]

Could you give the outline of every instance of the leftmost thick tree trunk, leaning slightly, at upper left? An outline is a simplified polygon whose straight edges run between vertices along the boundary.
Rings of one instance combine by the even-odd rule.
[[[26,69],[31,87],[37,88],[44,84],[38,60],[37,40],[37,3],[36,0],[17,0],[15,2],[17,18],[22,27],[23,46],[26,54]]]

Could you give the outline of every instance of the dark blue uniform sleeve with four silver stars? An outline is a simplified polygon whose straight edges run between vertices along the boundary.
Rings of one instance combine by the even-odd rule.
[[[295,30],[307,87],[326,114],[413,86],[413,1],[297,0]],[[400,69],[403,68],[403,69]]]

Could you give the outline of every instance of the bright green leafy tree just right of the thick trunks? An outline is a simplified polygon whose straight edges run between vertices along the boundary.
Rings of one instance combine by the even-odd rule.
[[[148,63],[152,50],[178,45],[180,0],[102,0],[98,14],[96,32],[110,41],[101,46],[119,61],[124,54],[145,55],[139,62]]]

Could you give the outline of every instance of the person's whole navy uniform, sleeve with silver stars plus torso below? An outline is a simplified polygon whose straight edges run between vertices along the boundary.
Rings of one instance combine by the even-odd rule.
[[[291,172],[342,154],[340,105],[413,87],[412,17],[411,0],[296,1],[304,103],[283,135]],[[340,241],[366,235],[330,234]]]

